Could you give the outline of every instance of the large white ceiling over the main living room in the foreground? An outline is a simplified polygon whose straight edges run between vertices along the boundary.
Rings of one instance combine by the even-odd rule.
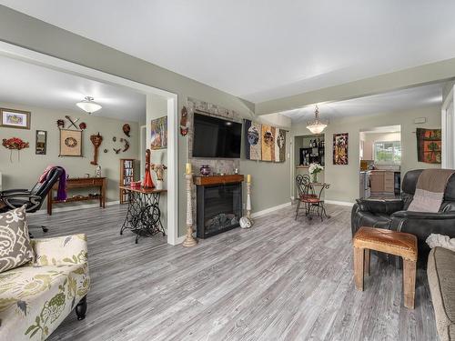
[[[455,57],[449,0],[0,0],[252,102]]]

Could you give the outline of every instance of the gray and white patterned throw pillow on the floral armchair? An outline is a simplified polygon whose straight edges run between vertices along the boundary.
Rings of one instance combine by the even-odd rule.
[[[25,206],[0,213],[0,273],[33,260]]]

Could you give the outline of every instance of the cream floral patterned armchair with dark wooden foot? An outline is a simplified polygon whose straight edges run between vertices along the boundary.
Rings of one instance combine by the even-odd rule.
[[[86,236],[31,243],[35,262],[0,274],[1,340],[45,340],[73,309],[86,316]]]

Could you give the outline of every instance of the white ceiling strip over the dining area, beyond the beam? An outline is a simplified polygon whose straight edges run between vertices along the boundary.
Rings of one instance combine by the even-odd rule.
[[[347,101],[319,104],[320,119],[340,116],[373,115],[385,112],[404,111],[414,108],[441,105],[443,84],[423,85],[380,95],[369,95]],[[308,105],[280,114],[293,123],[306,123],[314,118],[315,105]]]

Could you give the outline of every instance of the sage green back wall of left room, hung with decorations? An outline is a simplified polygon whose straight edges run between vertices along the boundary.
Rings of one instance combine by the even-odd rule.
[[[17,161],[17,153],[13,151],[13,162],[10,162],[10,151],[0,146],[0,172],[3,176],[3,188],[30,188],[35,185],[37,179],[47,165],[62,165],[66,173],[71,177],[82,177],[88,173],[95,176],[96,165],[91,165],[93,160],[94,147],[90,142],[90,135],[103,135],[103,142],[99,148],[98,165],[101,165],[102,175],[107,177],[107,201],[118,200],[118,183],[120,173],[120,158],[137,158],[138,155],[138,125],[136,122],[120,121],[97,115],[86,115],[81,111],[67,111],[46,109],[30,105],[19,105],[11,103],[0,103],[0,106],[11,109],[26,110],[31,112],[30,130],[0,127],[0,140],[3,138],[20,137],[29,142],[30,147],[20,151],[20,161]],[[106,113],[105,113],[106,114]],[[77,118],[79,122],[86,122],[86,130],[83,135],[83,157],[59,157],[59,130],[56,126],[57,119],[65,119],[65,115]],[[145,115],[145,113],[144,113]],[[67,125],[66,121],[66,127]],[[126,153],[116,153],[113,147],[120,148],[122,144],[118,141],[120,137],[126,137],[122,131],[122,126],[128,123],[131,125],[131,138]],[[35,131],[47,131],[47,151],[46,155],[35,155]],[[112,141],[116,136],[117,142]],[[103,149],[107,149],[105,154]],[[94,189],[94,192],[96,189]],[[69,195],[77,192],[71,192]],[[92,201],[79,202],[71,205],[91,204]],[[65,204],[69,206],[70,204]],[[57,205],[58,206],[58,205]],[[44,207],[45,208],[45,207]]]

